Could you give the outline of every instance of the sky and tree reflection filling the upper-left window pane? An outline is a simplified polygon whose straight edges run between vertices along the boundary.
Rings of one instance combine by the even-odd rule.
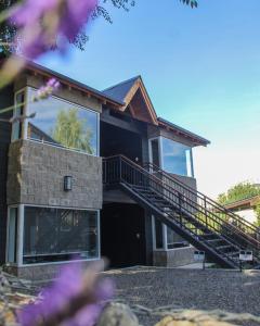
[[[98,154],[98,113],[54,97],[31,102],[36,90],[28,91],[29,113],[36,112],[28,121],[29,139]]]

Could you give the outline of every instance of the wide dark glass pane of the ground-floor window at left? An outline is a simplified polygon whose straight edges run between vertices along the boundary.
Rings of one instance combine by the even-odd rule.
[[[26,206],[24,264],[99,258],[98,212]]]

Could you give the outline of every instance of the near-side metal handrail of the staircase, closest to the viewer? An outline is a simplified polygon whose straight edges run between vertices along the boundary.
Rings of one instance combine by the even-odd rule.
[[[128,158],[126,158],[126,156],[123,156],[123,155],[114,155],[114,156],[110,156],[110,158],[107,158],[107,159],[104,159],[104,160],[105,160],[105,161],[107,161],[107,160],[119,160],[119,163],[120,163],[119,165],[121,165],[121,162],[125,161],[126,163],[128,163],[129,165],[133,166],[135,170],[138,170],[138,171],[141,172],[142,174],[145,174],[145,175],[148,177],[150,180],[155,181],[157,185],[159,185],[159,187],[162,187],[162,188],[165,188],[166,190],[168,190],[169,192],[174,193],[176,197],[178,197],[179,195],[183,196],[180,191],[178,191],[177,189],[170,187],[168,184],[162,183],[161,179],[159,179],[159,178],[156,177],[155,175],[151,174],[151,173],[147,172],[145,168],[143,168],[142,166],[138,165],[136,163],[132,162],[131,160],[129,160]],[[120,173],[119,178],[121,179],[121,173]],[[117,180],[117,181],[118,181],[118,180]],[[166,195],[162,193],[162,196],[165,197]],[[187,202],[187,201],[188,201],[188,202]],[[188,203],[190,206],[193,206],[193,205],[191,204],[191,202],[194,203],[194,201],[192,201],[191,198],[187,198],[187,199],[186,199],[186,203]],[[197,202],[195,202],[194,205],[195,205],[194,209],[196,209],[196,210],[198,210],[198,208],[203,209],[203,211],[200,211],[200,213],[204,214],[204,209],[205,209],[205,208],[203,208],[202,205],[199,205]],[[223,221],[220,216],[216,215],[214,212],[208,212],[208,214],[209,214],[209,215],[208,215],[208,218],[209,218],[211,222],[213,221],[214,223],[221,225],[221,227],[224,227],[224,228],[226,228],[226,229],[232,228],[232,229],[233,229],[233,233],[234,233],[237,237],[242,238],[242,239],[243,239],[244,241],[246,241],[246,242],[250,242],[250,244],[253,246],[255,249],[257,249],[257,250],[260,248],[260,247],[259,247],[259,246],[260,246],[260,242],[259,242],[258,240],[256,240],[255,238],[250,237],[249,235],[243,233],[240,229],[237,229],[234,225],[226,223],[226,221]],[[212,217],[213,217],[213,218],[212,218]],[[197,216],[194,216],[194,218],[196,220]],[[217,222],[217,221],[219,221],[219,222]],[[220,222],[221,222],[221,223],[220,223]],[[229,228],[227,228],[227,226],[226,226],[227,224],[230,225]],[[227,236],[225,235],[225,237],[227,237]],[[232,239],[232,242],[234,242],[234,239]],[[253,242],[253,243],[252,243],[252,242]]]

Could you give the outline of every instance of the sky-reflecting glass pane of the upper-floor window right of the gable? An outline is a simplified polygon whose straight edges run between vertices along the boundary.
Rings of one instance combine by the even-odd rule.
[[[191,147],[161,137],[161,155],[165,171],[193,177]]]

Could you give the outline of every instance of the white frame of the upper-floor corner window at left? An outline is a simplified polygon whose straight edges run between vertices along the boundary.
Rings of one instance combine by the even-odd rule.
[[[38,90],[37,88],[35,87],[31,87],[31,86],[26,86],[17,91],[15,91],[14,93],[14,103],[16,103],[16,96],[24,91],[25,92],[25,105],[24,105],[24,114],[25,115],[29,115],[30,113],[30,108],[28,105],[28,93],[29,93],[29,89],[32,89],[32,90]],[[82,106],[80,104],[77,104],[75,102],[70,102],[66,99],[63,99],[61,97],[57,97],[56,95],[51,95],[52,98],[54,99],[57,99],[60,101],[63,101],[65,103],[68,103],[70,105],[75,105],[79,109],[82,109],[82,110],[87,110],[87,111],[90,111],[94,114],[96,114],[96,153],[95,154],[91,154],[91,153],[88,153],[88,152],[84,152],[84,151],[81,151],[80,149],[74,149],[74,148],[69,148],[69,147],[62,147],[62,146],[56,146],[52,142],[48,142],[48,141],[44,141],[44,140],[37,140],[37,139],[31,139],[31,138],[28,138],[28,118],[26,118],[23,123],[22,123],[22,137],[20,139],[13,139],[13,126],[12,126],[12,142],[14,141],[17,141],[17,140],[28,140],[28,141],[34,141],[34,142],[37,142],[37,143],[43,143],[43,145],[47,145],[47,146],[51,146],[51,147],[54,147],[54,148],[60,148],[60,149],[63,149],[63,150],[67,150],[67,151],[72,151],[72,152],[77,152],[77,153],[81,153],[81,154],[86,154],[86,155],[90,155],[90,156],[95,156],[95,158],[99,158],[100,156],[100,121],[101,121],[101,113],[99,111],[95,111],[89,106]],[[44,100],[43,100],[44,101]],[[16,104],[15,104],[16,105]],[[13,111],[13,116],[14,113],[16,112],[16,106]]]

